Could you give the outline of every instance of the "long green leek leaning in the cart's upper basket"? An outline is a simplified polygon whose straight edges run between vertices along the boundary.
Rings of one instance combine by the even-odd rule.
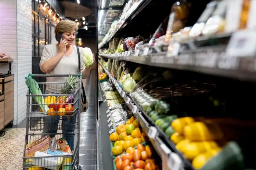
[[[26,77],[26,84],[28,86],[28,89],[31,95],[43,95],[42,91],[38,86],[38,83],[33,78]],[[47,107],[47,104],[44,103],[43,96],[34,96],[33,99],[35,100],[35,102],[37,102],[37,104],[39,104],[42,111],[46,113],[48,110],[48,107]]]

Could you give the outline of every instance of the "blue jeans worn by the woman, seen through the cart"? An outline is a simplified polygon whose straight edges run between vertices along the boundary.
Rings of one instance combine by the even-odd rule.
[[[51,91],[45,91],[45,94],[56,94]],[[77,113],[74,116],[62,116],[62,123],[61,123],[61,130],[63,133],[63,137],[68,142],[69,147],[71,148],[72,152],[74,150],[74,137],[75,134],[65,134],[65,133],[72,133],[75,131],[75,124]],[[55,137],[54,133],[58,131],[58,124],[59,124],[60,116],[47,116],[44,117],[44,124],[43,124],[43,132],[42,134],[49,134],[51,138]],[[52,133],[52,134],[51,134]]]

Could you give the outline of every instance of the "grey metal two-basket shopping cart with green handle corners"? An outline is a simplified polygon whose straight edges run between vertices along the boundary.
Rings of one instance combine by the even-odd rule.
[[[27,124],[23,154],[24,170],[82,169],[79,165],[82,75],[29,74],[29,77],[35,80],[37,78],[55,77],[58,79],[69,76],[77,77],[78,79],[69,94],[60,94],[59,91],[52,90],[65,87],[66,82],[38,83],[43,95],[32,95],[29,89],[27,91]],[[45,94],[50,91],[48,90],[49,87],[51,87],[52,94]],[[47,112],[44,112],[45,109],[40,107],[43,104],[36,103],[33,97],[43,97],[46,100]],[[66,107],[65,110],[60,109],[63,107]],[[65,145],[67,143],[68,145]],[[68,146],[70,146],[70,149]]]

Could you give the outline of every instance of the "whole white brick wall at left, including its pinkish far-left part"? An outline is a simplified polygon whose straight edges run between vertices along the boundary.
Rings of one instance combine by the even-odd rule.
[[[25,76],[32,65],[31,0],[0,0],[0,52],[13,58],[14,122],[26,117]]]

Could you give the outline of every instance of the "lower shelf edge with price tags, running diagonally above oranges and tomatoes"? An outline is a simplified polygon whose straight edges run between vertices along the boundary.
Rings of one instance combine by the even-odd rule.
[[[102,63],[99,62],[99,64],[108,74],[111,83],[114,84],[120,96],[122,96],[122,98],[125,100],[134,117],[138,119],[142,129],[146,132],[148,137],[150,137],[150,141],[154,149],[162,159],[162,169],[168,170],[172,169],[171,167],[175,165],[180,165],[181,168],[186,170],[194,170],[191,163],[175,148],[174,143],[172,143],[165,133],[163,133],[163,131],[155,125],[155,123],[146,115],[138,103],[135,102],[132,97],[124,91],[122,85],[116,81],[116,79],[102,65]]]

